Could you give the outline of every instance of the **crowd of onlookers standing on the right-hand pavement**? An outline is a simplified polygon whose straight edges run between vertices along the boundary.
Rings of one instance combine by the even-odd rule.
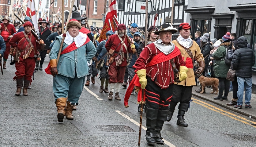
[[[241,109],[245,88],[245,108],[252,108],[250,100],[252,66],[255,64],[255,55],[247,39],[244,36],[237,38],[236,33],[230,34],[230,32],[227,32],[221,39],[210,40],[209,35],[210,33],[205,33],[201,36],[201,32],[197,31],[195,41],[199,45],[206,63],[203,76],[219,80],[219,94],[214,97],[214,100],[227,100],[228,94],[233,93],[231,102],[226,105]],[[230,69],[236,72],[232,82],[227,80],[227,73]],[[196,90],[196,92],[201,91],[202,87]]]

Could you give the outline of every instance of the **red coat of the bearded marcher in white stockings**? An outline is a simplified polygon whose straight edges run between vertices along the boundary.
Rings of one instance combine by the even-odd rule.
[[[124,36],[125,37],[125,36]],[[108,41],[106,42],[106,50],[109,51],[110,49],[113,49],[115,50],[115,53],[114,53],[114,57],[118,54],[120,48],[121,48],[121,40],[119,39],[118,35],[117,34],[114,34],[114,35],[111,35],[110,38],[108,39]],[[129,45],[129,42],[127,40],[127,38],[125,38],[125,41],[124,41],[124,44],[127,46],[127,50],[128,50],[128,53],[132,53],[132,49],[131,49],[131,46]],[[121,65],[119,66],[127,66],[127,51],[123,45],[123,51],[124,51],[124,61]],[[116,61],[114,60],[114,62],[112,63],[113,65],[116,65]]]

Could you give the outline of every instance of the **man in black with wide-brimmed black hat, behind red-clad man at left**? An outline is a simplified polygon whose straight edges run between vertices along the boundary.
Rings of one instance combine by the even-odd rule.
[[[47,37],[52,34],[52,31],[50,31],[50,29],[47,27],[49,25],[48,22],[46,22],[45,19],[42,20],[42,22],[39,23],[41,26],[39,27],[39,37],[44,40],[44,42],[46,42]],[[40,56],[41,56],[41,61],[40,61],[40,66],[39,66],[39,70],[43,70],[43,63],[45,60],[45,56],[47,53],[47,50],[49,50],[49,44],[46,43],[45,49],[43,51],[40,51]],[[37,61],[39,62],[39,61]]]

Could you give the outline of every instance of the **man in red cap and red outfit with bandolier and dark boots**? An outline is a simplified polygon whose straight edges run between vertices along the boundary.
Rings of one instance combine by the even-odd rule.
[[[27,89],[34,73],[35,60],[39,57],[37,50],[41,49],[40,44],[44,44],[43,40],[38,42],[35,36],[31,33],[31,30],[33,29],[33,24],[31,22],[26,22],[23,24],[23,27],[25,31],[15,34],[9,42],[12,47],[16,47],[16,54],[14,55],[14,60],[16,61],[15,67],[17,70],[15,73],[17,83],[16,96],[20,95],[23,82],[23,96],[28,95]]]

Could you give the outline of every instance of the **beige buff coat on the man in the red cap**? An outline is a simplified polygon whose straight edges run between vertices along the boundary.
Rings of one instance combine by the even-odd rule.
[[[182,47],[177,42],[177,40],[173,40],[172,43],[174,43],[174,45],[177,46],[180,49],[182,57],[187,56],[187,58],[191,58],[190,55],[187,53],[187,51],[184,49],[184,47]],[[189,49],[192,51],[193,57],[197,62],[199,62],[200,60],[204,61],[204,57],[203,57],[203,54],[201,53],[201,49],[195,41],[193,41],[193,45]],[[174,82],[174,84],[177,84],[177,83]],[[196,85],[194,70],[192,68],[188,68],[187,79],[180,82],[177,85],[183,85],[183,86],[194,86],[194,85]]]

